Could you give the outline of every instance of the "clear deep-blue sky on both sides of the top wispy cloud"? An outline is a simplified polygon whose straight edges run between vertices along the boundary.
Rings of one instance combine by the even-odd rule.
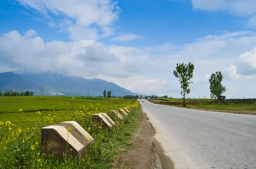
[[[119,34],[131,33],[144,37],[131,43],[117,45],[156,46],[162,43],[191,43],[206,34],[221,34],[218,31],[236,32],[247,30],[241,24],[244,17],[235,17],[227,11],[195,11],[190,1],[170,0],[120,0],[122,12],[114,28]],[[17,30],[21,34],[29,29],[36,30],[43,40],[69,41],[67,33],[50,28],[48,20],[35,10],[28,10],[13,0],[0,2],[0,33]],[[54,16],[58,20],[61,16]],[[99,40],[113,44],[110,37]]]

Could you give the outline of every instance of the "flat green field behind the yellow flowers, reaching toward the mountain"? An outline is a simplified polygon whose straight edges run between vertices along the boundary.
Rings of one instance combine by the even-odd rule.
[[[70,103],[72,97],[38,97],[38,96],[1,96],[0,97],[0,121],[11,121],[20,124],[19,109],[23,110],[21,123],[24,128],[35,126],[32,122],[37,117],[36,112],[42,112],[43,117],[49,114],[64,115],[68,114],[67,103]],[[117,103],[132,103],[133,99],[121,98],[96,98],[96,97],[75,97],[74,109],[81,106],[88,107],[90,103],[100,104],[101,106],[111,106]],[[55,110],[55,111],[53,111]],[[39,120],[39,118],[36,118]]]

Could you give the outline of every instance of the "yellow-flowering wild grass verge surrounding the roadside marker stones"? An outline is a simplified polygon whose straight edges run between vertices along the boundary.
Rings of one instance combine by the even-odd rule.
[[[140,116],[140,110],[133,110],[123,120],[115,118],[116,126],[112,131],[95,126],[92,115],[106,112],[110,115],[111,110],[116,110],[130,105],[139,107],[139,102],[134,100],[129,103],[99,103],[81,106],[76,109],[74,98],[67,103],[67,111],[49,113],[43,116],[43,112],[35,113],[35,119],[31,127],[22,128],[23,110],[20,109],[20,124],[10,121],[0,122],[0,169],[108,169],[118,154],[118,149],[127,144],[128,138]],[[114,112],[113,112],[114,114]],[[111,114],[111,117],[114,115]],[[41,154],[41,128],[64,121],[76,121],[93,138],[94,143],[87,148],[84,157],[72,157],[68,149],[62,159],[53,155]],[[68,129],[72,132],[72,129]]]

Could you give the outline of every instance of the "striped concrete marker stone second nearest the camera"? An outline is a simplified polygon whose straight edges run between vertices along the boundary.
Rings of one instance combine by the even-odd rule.
[[[95,120],[96,126],[106,127],[110,130],[112,130],[113,126],[116,125],[116,123],[113,122],[113,120],[110,117],[108,117],[106,113],[94,114],[93,120]]]

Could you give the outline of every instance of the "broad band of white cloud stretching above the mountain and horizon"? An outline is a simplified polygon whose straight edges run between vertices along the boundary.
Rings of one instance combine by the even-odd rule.
[[[134,92],[180,97],[180,83],[173,71],[176,63],[191,61],[195,70],[189,97],[209,97],[208,79],[216,71],[224,74],[228,98],[253,97],[251,92],[241,91],[244,84],[255,83],[254,75],[248,73],[256,70],[253,33],[212,35],[214,38],[202,37],[180,46],[166,43],[146,48],[105,46],[95,40],[44,42],[34,30],[25,35],[11,31],[0,36],[1,72],[50,71],[98,77]]]

